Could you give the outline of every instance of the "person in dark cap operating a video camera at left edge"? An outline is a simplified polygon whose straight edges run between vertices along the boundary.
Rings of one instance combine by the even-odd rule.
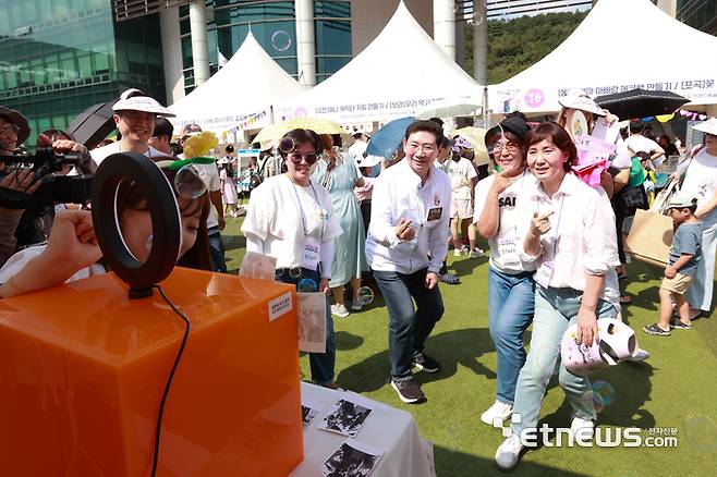
[[[47,240],[47,234],[41,227],[36,232],[23,234],[27,238],[19,241],[17,235],[19,225],[26,213],[26,208],[17,207],[17,200],[26,198],[29,201],[40,183],[32,169],[19,167],[16,161],[10,161],[9,158],[15,155],[15,149],[27,139],[29,132],[29,123],[23,114],[0,106],[0,266],[17,249],[37,245]],[[82,144],[62,137],[45,137],[45,140],[54,154],[72,152],[80,156],[81,161],[77,167],[83,172],[95,171],[89,152]],[[3,196],[9,197],[10,200],[2,200]]]

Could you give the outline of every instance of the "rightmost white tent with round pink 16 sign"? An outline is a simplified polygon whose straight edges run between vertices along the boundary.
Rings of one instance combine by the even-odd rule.
[[[664,89],[693,103],[717,103],[717,38],[663,12],[649,0],[600,0],[558,48],[489,87],[493,112],[550,112],[573,88],[592,97],[633,88]]]

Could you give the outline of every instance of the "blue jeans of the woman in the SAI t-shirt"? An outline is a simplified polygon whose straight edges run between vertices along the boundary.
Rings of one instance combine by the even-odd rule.
[[[496,400],[512,404],[515,382],[525,363],[523,333],[533,321],[533,272],[517,274],[488,269],[488,327],[498,355]]]

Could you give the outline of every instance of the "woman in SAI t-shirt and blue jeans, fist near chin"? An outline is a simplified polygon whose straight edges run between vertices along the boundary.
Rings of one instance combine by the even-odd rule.
[[[523,333],[533,321],[534,265],[520,259],[517,246],[530,222],[525,198],[535,188],[523,154],[528,132],[521,118],[509,118],[488,131],[486,146],[500,172],[475,186],[473,217],[478,233],[490,245],[488,327],[498,357],[496,400],[481,415],[488,425],[502,421],[513,411],[515,382],[525,363]]]

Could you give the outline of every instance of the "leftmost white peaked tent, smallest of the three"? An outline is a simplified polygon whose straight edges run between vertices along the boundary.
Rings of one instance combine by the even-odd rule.
[[[227,64],[184,98],[169,107],[175,126],[197,123],[221,132],[244,123],[271,122],[269,108],[304,88],[264,51],[252,32]]]

